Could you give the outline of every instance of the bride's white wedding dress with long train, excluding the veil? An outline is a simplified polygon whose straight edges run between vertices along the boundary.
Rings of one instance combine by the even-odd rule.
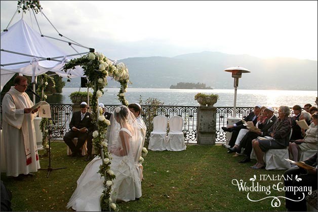
[[[125,131],[132,137],[128,129],[122,128],[120,131]],[[120,140],[120,137],[117,139]],[[130,141],[130,149],[136,148],[138,145],[132,144]],[[113,180],[112,200],[130,201],[140,198],[141,180],[137,171],[138,163],[134,162],[133,155],[117,156],[112,154],[111,156],[110,169],[116,176]],[[104,182],[104,178],[98,173],[101,164],[101,158],[97,157],[87,164],[77,180],[77,187],[67,203],[67,208],[72,207],[76,211],[101,211],[100,197]]]

